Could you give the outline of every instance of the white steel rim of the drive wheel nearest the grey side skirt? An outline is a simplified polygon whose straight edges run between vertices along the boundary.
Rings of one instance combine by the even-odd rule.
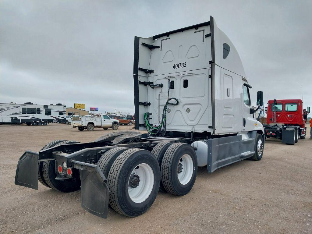
[[[193,175],[193,160],[189,154],[183,154],[177,168],[178,179],[181,184],[187,184]]]

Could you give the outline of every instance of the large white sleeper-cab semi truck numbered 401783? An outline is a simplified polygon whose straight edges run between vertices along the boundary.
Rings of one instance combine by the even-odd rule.
[[[81,206],[99,217],[110,207],[135,217],[158,190],[187,194],[197,166],[217,168],[263,156],[264,129],[254,118],[241,59],[210,21],[153,37],[134,38],[135,128],[94,142],[56,140],[26,151],[15,184],[38,180],[62,192],[80,189]],[[257,106],[263,93],[257,93]],[[56,198],[57,199],[57,198]]]

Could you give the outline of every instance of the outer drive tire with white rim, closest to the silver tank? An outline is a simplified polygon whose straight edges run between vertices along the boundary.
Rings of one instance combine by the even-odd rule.
[[[180,162],[183,162],[183,160],[181,161],[182,157],[185,155],[190,157],[193,166],[190,167],[192,164],[188,163],[188,165],[190,165],[186,167],[188,170],[183,168],[186,170],[185,172],[189,172],[187,174],[190,175],[190,173],[192,173],[189,180],[187,180],[188,182],[183,184],[178,178],[177,170]],[[193,147],[186,143],[173,143],[170,145],[163,155],[160,174],[163,187],[168,193],[183,196],[191,191],[197,176],[197,157]]]

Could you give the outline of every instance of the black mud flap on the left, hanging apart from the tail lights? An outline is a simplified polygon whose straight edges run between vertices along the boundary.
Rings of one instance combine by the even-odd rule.
[[[38,189],[38,158],[39,154],[26,151],[17,163],[15,184]]]

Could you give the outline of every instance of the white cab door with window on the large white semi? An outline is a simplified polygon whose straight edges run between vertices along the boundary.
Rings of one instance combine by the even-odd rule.
[[[251,86],[250,86],[251,87]],[[249,94],[249,86],[246,81],[242,80],[242,105],[243,105],[243,124],[242,124],[242,132],[251,131],[255,127],[256,120],[253,115],[250,114],[250,109],[252,108],[250,94]]]

